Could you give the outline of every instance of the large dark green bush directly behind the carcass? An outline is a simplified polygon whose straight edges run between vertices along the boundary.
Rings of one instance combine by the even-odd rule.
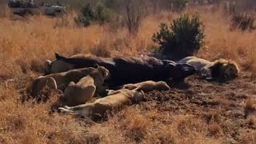
[[[202,22],[198,14],[190,19],[188,14],[180,16],[170,23],[161,23],[160,31],[153,35],[153,41],[158,43],[163,54],[184,58],[193,55],[203,44],[205,38]]]

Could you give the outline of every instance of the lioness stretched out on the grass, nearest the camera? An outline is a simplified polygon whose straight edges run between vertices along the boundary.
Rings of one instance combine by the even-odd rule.
[[[90,117],[95,115],[103,116],[107,110],[113,110],[122,107],[129,102],[141,102],[145,94],[142,90],[115,90],[104,98],[99,98],[93,103],[86,103],[79,106],[64,106],[59,107],[59,110],[70,114],[78,114],[83,117]]]

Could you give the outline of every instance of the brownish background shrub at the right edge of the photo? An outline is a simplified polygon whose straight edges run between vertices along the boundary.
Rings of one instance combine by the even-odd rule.
[[[231,30],[254,30],[254,20],[254,16],[250,14],[234,14],[233,17],[231,18]]]

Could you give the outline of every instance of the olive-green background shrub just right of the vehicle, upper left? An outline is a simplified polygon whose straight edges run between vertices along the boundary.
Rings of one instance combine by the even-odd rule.
[[[82,7],[82,10],[78,14],[77,18],[74,18],[74,22],[78,26],[90,26],[93,22],[99,23],[100,25],[110,22],[114,18],[113,11],[103,5],[98,3],[98,5],[92,7],[90,3]]]

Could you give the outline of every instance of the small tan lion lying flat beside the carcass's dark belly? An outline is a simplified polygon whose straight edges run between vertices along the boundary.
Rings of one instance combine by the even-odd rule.
[[[170,90],[170,86],[167,85],[166,82],[159,81],[145,81],[145,82],[138,82],[138,83],[130,83],[122,86],[122,89],[134,90],[138,88],[139,90],[143,90],[143,92],[147,93],[152,90]]]

